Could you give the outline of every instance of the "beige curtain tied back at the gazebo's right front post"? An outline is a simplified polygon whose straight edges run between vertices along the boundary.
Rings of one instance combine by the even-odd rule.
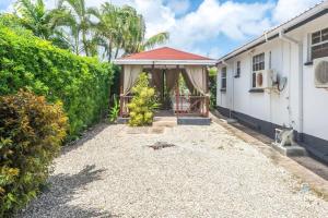
[[[194,87],[202,95],[207,95],[207,70],[198,65],[186,65],[185,69]]]

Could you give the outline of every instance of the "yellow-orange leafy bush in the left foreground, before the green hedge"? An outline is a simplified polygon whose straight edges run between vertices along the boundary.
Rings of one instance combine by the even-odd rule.
[[[0,217],[25,206],[46,182],[66,136],[60,102],[31,92],[0,97]]]

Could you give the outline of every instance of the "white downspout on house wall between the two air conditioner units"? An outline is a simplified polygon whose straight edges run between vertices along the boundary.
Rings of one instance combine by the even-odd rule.
[[[282,40],[285,40],[290,44],[295,44],[298,46],[298,69],[300,69],[300,74],[298,74],[298,138],[302,141],[302,133],[303,133],[303,125],[304,125],[304,107],[303,107],[303,101],[304,101],[304,96],[303,96],[303,44],[302,41],[298,41],[290,36],[286,36],[284,34],[284,31],[279,32],[279,38]],[[291,61],[291,60],[290,60]],[[291,85],[291,84],[290,84]],[[289,96],[291,96],[291,93],[289,93]]]

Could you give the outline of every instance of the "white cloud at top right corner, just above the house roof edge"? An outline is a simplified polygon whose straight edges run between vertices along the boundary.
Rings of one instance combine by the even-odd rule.
[[[285,22],[323,0],[279,0],[272,19],[277,23]]]

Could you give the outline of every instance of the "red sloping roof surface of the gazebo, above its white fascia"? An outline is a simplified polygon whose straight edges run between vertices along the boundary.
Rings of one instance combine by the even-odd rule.
[[[163,47],[140,53],[120,58],[125,60],[212,60],[195,53],[180,51],[174,48]]]

